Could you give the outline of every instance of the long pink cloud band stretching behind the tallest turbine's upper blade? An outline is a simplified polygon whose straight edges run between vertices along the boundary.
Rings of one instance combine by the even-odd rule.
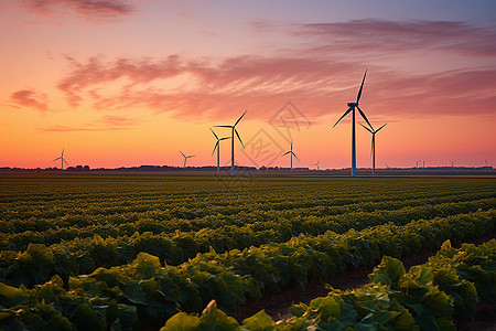
[[[267,119],[288,100],[302,107],[309,118],[344,111],[346,102],[356,97],[364,71],[357,63],[299,57],[237,56],[218,63],[176,55],[161,62],[71,61],[74,70],[58,88],[73,105],[86,98],[101,110],[143,107],[200,119],[228,119],[241,108],[250,108],[251,118]],[[170,90],[154,84],[182,74],[191,75],[196,84]],[[490,114],[483,105],[494,102],[495,75],[494,67],[407,75],[370,66],[363,106],[384,116],[465,115],[467,107],[472,114]],[[117,94],[95,92],[122,77],[129,83]]]

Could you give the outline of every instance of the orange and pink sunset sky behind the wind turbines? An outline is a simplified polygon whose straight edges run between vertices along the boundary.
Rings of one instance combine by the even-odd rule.
[[[494,0],[0,1],[0,167],[496,166]],[[357,167],[371,135],[356,114]],[[220,142],[230,164],[230,140]]]

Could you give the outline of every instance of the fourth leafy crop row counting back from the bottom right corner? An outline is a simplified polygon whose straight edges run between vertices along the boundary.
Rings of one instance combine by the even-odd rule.
[[[51,245],[61,241],[72,241],[74,238],[93,237],[95,234],[106,237],[130,236],[136,232],[174,233],[196,232],[204,228],[219,229],[223,227],[245,226],[258,231],[278,229],[280,237],[278,242],[289,239],[289,236],[299,233],[316,235],[332,229],[344,232],[352,227],[363,228],[364,226],[381,224],[384,222],[409,222],[411,220],[446,216],[455,213],[473,212],[477,209],[487,210],[496,205],[496,197],[478,197],[473,195],[459,197],[459,201],[435,204],[434,202],[423,202],[413,204],[411,201],[406,206],[367,207],[363,204],[362,210],[349,206],[322,206],[316,212],[316,207],[298,209],[295,211],[258,211],[238,212],[231,215],[212,214],[203,215],[203,212],[183,210],[182,217],[172,218],[163,212],[149,211],[142,214],[117,214],[117,215],[65,215],[55,220],[31,217],[29,220],[0,221],[2,232],[0,232],[0,245],[3,249],[25,249],[29,243],[43,243]],[[455,199],[456,200],[456,199]],[[412,204],[414,206],[412,206]],[[379,209],[380,207],[380,209]],[[177,212],[180,214],[180,212]],[[201,216],[203,215],[203,216]],[[302,216],[304,215],[304,216]],[[140,218],[141,217],[141,218]],[[191,218],[191,220],[188,220]],[[312,224],[310,224],[312,223]],[[281,225],[284,225],[281,228]],[[303,226],[300,226],[304,224]],[[312,226],[310,226],[312,225]],[[257,241],[250,243],[257,245]],[[242,246],[241,246],[242,247]],[[241,248],[237,247],[237,248]],[[170,261],[174,264],[174,261]]]

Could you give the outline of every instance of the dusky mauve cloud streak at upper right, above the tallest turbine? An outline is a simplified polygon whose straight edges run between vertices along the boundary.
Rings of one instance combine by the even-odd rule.
[[[267,26],[265,26],[267,29]],[[308,52],[369,55],[441,50],[463,55],[496,56],[496,26],[481,28],[453,21],[354,20],[336,23],[293,24],[295,36],[319,41]]]

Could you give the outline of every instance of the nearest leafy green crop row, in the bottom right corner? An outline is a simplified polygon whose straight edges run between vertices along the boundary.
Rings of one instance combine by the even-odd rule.
[[[406,273],[385,256],[370,282],[343,292],[332,289],[310,305],[295,305],[291,317],[274,322],[265,311],[242,327],[212,301],[201,316],[179,312],[161,331],[209,330],[454,330],[453,320],[475,316],[479,301],[496,302],[496,241],[454,249],[445,242],[429,263]]]

